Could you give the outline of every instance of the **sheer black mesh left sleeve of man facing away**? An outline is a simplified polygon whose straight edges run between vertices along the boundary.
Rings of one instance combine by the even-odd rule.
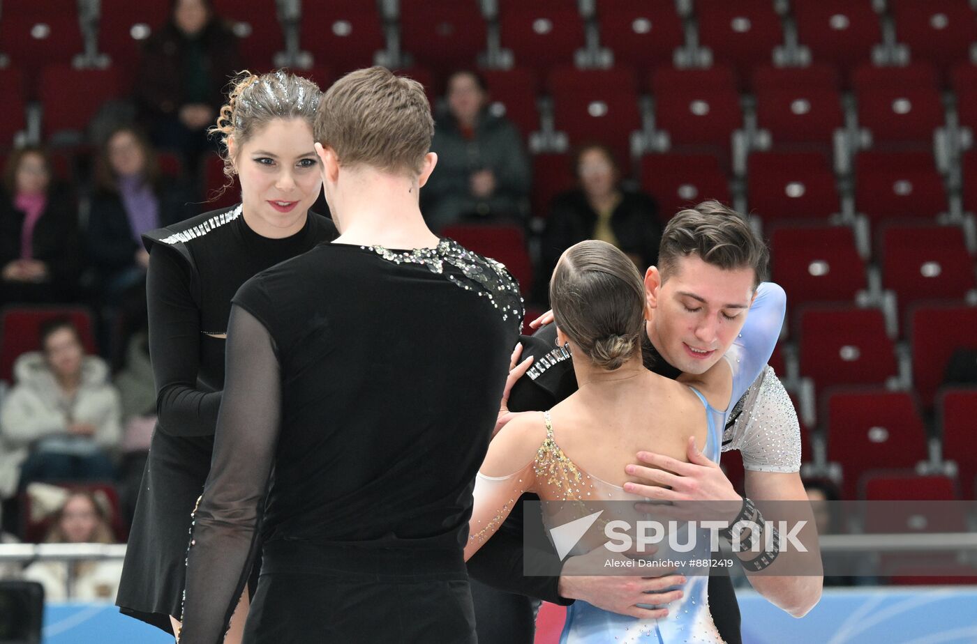
[[[268,329],[234,304],[210,475],[194,512],[181,644],[220,644],[247,581],[272,471],[281,384]]]

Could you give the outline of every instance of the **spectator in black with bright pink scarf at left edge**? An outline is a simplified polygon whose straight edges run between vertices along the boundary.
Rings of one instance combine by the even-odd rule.
[[[78,211],[40,147],[16,150],[0,190],[0,302],[69,302],[83,264]]]

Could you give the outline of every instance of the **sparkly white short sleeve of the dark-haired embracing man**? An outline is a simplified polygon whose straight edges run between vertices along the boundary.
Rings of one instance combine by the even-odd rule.
[[[800,470],[800,423],[793,401],[767,367],[737,403],[742,409],[723,433],[723,452],[740,450],[743,467],[761,472]],[[737,409],[734,409],[735,415]]]

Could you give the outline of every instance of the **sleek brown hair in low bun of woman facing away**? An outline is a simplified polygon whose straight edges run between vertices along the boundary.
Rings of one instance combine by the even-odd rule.
[[[557,328],[591,362],[614,371],[641,351],[645,286],[626,255],[597,240],[568,248],[550,280]]]

